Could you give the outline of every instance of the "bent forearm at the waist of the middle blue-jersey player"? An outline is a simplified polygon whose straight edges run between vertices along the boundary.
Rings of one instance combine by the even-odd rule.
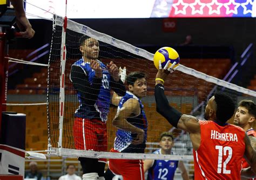
[[[139,133],[139,128],[133,126],[131,123],[129,123],[126,119],[122,117],[114,117],[112,124],[113,126],[116,126],[118,129],[130,131],[132,133]]]

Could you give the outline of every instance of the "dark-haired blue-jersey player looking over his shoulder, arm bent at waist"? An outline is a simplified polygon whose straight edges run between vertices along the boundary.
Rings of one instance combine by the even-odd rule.
[[[145,73],[131,72],[126,77],[129,91],[120,100],[113,125],[118,128],[113,152],[144,153],[147,119],[141,98],[146,96]],[[110,170],[124,180],[144,179],[142,160],[109,160]]]

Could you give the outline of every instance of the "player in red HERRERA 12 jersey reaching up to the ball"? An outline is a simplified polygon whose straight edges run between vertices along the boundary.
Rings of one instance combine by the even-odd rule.
[[[159,63],[160,64],[160,63]],[[205,119],[178,112],[169,105],[164,94],[164,81],[173,65],[168,64],[156,75],[155,98],[157,112],[163,115],[174,127],[188,131],[193,145],[195,179],[240,179],[242,157],[245,155],[256,171],[256,151],[252,148],[245,131],[226,123],[235,110],[230,96],[216,93],[208,101]],[[175,64],[174,64],[175,65]]]

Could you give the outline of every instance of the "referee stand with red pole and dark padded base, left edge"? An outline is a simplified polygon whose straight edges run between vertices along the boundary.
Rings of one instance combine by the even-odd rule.
[[[18,36],[15,11],[7,8],[7,1],[0,0],[0,179],[19,180],[24,176],[26,115],[5,112],[8,85],[8,43]]]

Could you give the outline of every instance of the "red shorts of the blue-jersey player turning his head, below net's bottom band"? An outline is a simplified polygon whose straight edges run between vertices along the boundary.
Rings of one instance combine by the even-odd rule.
[[[124,180],[144,180],[145,178],[142,160],[110,159],[109,169],[113,174],[122,175]]]

